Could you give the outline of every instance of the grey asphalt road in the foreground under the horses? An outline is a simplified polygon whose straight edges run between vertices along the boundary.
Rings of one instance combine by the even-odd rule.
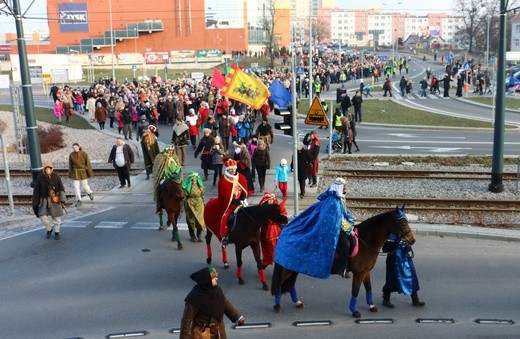
[[[183,217],[181,217],[183,218]],[[117,221],[117,222],[115,222]],[[1,240],[1,336],[4,338],[100,338],[108,334],[148,331],[149,337],[171,338],[180,326],[183,299],[193,286],[189,274],[206,266],[205,246],[189,242],[185,249],[169,241],[170,232],[156,230],[151,205],[118,206],[84,216],[64,226],[61,241],[45,240],[44,230]],[[221,268],[217,244],[213,265],[219,284],[245,315],[247,323],[272,327],[232,330],[230,338],[343,338],[346,335],[388,338],[503,337],[520,333],[520,261],[516,243],[453,237],[417,236],[415,264],[426,302],[411,306],[409,297],[393,295],[393,310],[381,306],[384,256],[373,270],[378,313],[370,313],[360,293],[363,320],[391,319],[390,324],[357,324],[348,310],[351,280],[301,276],[297,287],[305,309],[282,299],[274,313],[273,298],[261,289],[250,251],[244,252],[244,286],[231,269]],[[268,280],[272,268],[267,269]],[[416,320],[449,319],[454,323],[420,324]],[[514,324],[482,325],[477,319]],[[297,321],[332,321],[331,326],[295,327]]]

